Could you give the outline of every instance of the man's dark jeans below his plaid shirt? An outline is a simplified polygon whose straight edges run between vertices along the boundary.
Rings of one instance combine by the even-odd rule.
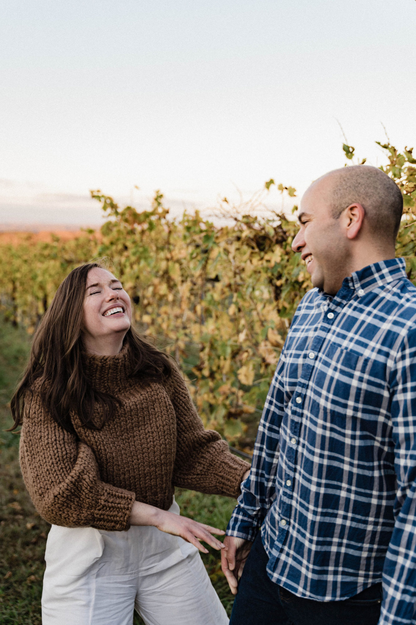
[[[268,560],[259,534],[245,562],[230,625],[377,625],[381,584],[344,601],[302,599],[269,579]]]

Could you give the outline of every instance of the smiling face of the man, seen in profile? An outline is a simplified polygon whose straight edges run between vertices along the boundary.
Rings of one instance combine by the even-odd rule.
[[[305,192],[300,202],[300,229],[292,249],[301,252],[313,286],[334,295],[348,275],[349,239],[342,228],[342,217],[332,217],[331,184],[324,178]]]

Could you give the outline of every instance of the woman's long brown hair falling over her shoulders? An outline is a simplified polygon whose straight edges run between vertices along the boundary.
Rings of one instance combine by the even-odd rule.
[[[42,403],[60,426],[74,431],[71,414],[77,414],[84,426],[100,429],[114,413],[118,400],[87,383],[82,364],[82,324],[87,275],[90,269],[102,267],[87,262],[73,269],[61,282],[51,306],[47,309],[32,342],[29,362],[11,400],[15,429],[22,423],[27,393],[35,381],[40,382]],[[124,342],[129,344],[132,377],[143,381],[163,380],[172,373],[169,358],[156,349],[133,327]],[[100,423],[93,419],[94,406],[101,405]]]

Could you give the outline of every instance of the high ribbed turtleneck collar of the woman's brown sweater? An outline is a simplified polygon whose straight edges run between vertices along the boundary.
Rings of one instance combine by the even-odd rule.
[[[87,380],[99,391],[117,393],[131,379],[132,366],[127,343],[116,356],[96,356],[84,352],[82,361]]]

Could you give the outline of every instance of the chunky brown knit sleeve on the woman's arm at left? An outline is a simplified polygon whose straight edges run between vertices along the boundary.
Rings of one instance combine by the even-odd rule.
[[[134,492],[101,481],[94,452],[49,416],[36,391],[27,394],[20,463],[32,502],[49,523],[129,529]]]

